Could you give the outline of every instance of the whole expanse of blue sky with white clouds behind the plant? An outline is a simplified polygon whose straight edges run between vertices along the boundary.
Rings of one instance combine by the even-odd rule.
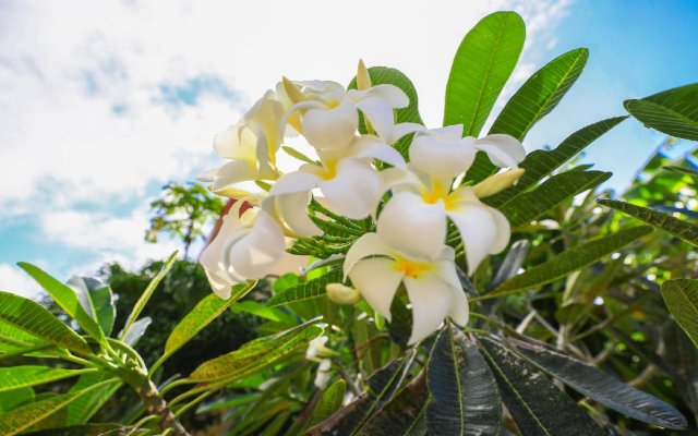
[[[357,0],[347,15],[321,0],[237,4],[0,0],[0,289],[37,290],[19,261],[67,279],[171,252],[143,242],[147,204],[168,180],[217,165],[213,135],[281,74],[347,82],[360,57],[398,68],[436,126],[465,32],[516,10],[528,40],[504,98],[554,57],[590,49],[577,85],[527,137],[531,150],[698,73],[695,0]],[[586,160],[622,187],[660,141],[628,120]]]

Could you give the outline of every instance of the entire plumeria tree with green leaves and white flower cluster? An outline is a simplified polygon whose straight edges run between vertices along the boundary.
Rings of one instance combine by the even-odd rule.
[[[658,371],[669,384],[695,380],[689,363],[667,364],[660,348],[638,351],[631,358],[654,370],[626,384],[625,349],[614,347],[641,349],[635,332],[626,340],[633,311],[647,301],[638,287],[653,282],[638,253],[669,250],[651,226],[694,245],[697,227],[648,205],[595,204],[595,189],[611,173],[566,164],[627,116],[526,154],[521,141],[575,83],[588,52],[571,50],[544,65],[494,116],[524,40],[525,25],[512,12],[489,15],[466,35],[438,128],[424,125],[414,87],[392,68],[359,62],[346,88],[282,77],[266,92],[214,140],[225,162],[200,180],[234,203],[200,258],[213,293],[173,328],[155,362],[132,346],[145,330],[143,307],[174,257],[118,335],[110,334],[108,287],[62,284],[22,264],[80,329],[1,293],[0,332],[9,338],[2,352],[71,365],[3,370],[2,390],[80,378],[67,393],[8,408],[0,428],[184,435],[186,413],[218,414],[216,434],[232,435],[695,427],[676,408],[696,413],[695,384],[681,389],[681,403],[671,390],[637,388],[650,386]],[[695,141],[696,93],[690,85],[626,107],[649,126]],[[289,159],[297,162],[290,171],[281,165]],[[672,171],[694,177],[684,164]],[[616,218],[605,206],[651,226]],[[695,261],[685,247],[676,256],[684,266]],[[683,328],[664,311],[673,329],[660,343],[695,356],[695,268],[651,267],[661,269],[661,292]],[[240,301],[262,280],[272,282],[272,295]],[[181,378],[159,379],[167,360],[227,310],[266,319],[265,336]],[[637,332],[653,332],[642,326]],[[98,408],[122,384],[140,395],[137,409],[120,424],[86,424],[86,404]]]

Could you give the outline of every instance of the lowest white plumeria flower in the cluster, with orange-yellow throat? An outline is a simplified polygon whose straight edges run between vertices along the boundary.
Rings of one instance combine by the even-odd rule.
[[[395,293],[404,284],[412,305],[410,344],[431,335],[447,316],[461,326],[468,324],[468,299],[458,280],[454,250],[442,242],[441,252],[432,258],[409,256],[388,245],[383,238],[386,231],[390,229],[366,233],[354,242],[345,258],[345,279],[348,276],[387,320]]]

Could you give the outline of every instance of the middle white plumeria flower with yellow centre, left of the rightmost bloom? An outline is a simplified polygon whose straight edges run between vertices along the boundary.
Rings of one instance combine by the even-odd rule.
[[[269,191],[264,207],[278,216],[296,234],[314,237],[322,231],[308,216],[310,193],[320,189],[330,210],[350,219],[375,211],[385,192],[381,173],[372,166],[378,159],[405,168],[402,156],[376,136],[363,135],[344,149],[318,150],[320,162],[302,165],[282,175]]]

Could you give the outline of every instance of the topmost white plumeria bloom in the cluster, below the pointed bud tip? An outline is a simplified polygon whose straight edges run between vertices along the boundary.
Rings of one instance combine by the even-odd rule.
[[[288,124],[316,149],[336,150],[349,146],[359,128],[359,110],[378,136],[389,141],[388,144],[410,133],[410,129],[419,128],[418,124],[404,124],[396,129],[393,110],[407,107],[410,100],[395,85],[345,90],[336,82],[285,80],[280,87],[285,90],[284,98],[294,102],[286,112]]]

